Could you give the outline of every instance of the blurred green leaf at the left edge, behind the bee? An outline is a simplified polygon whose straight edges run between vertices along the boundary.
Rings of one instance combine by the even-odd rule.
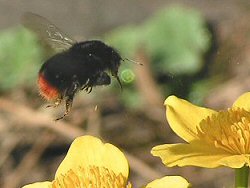
[[[36,82],[43,50],[36,37],[23,27],[0,33],[0,90]]]

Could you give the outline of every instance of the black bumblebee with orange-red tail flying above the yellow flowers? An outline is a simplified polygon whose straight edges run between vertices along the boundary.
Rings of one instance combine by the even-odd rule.
[[[57,107],[66,102],[63,119],[70,111],[75,94],[80,90],[92,91],[92,87],[109,85],[114,76],[120,86],[118,69],[120,54],[99,40],[76,42],[61,32],[46,18],[27,12],[22,17],[25,27],[35,32],[46,44],[61,52],[49,58],[38,74],[40,94]]]

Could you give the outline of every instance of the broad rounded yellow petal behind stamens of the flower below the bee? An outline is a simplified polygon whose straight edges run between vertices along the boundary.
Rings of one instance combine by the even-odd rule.
[[[104,144],[93,136],[76,138],[69,151],[57,169],[56,177],[65,174],[70,169],[76,170],[89,166],[105,167],[116,175],[128,177],[128,161],[124,154],[112,144]]]

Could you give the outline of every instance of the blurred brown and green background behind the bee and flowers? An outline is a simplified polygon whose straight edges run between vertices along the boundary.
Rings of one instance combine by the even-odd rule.
[[[107,87],[80,92],[72,112],[45,108],[37,73],[48,58],[20,17],[34,12],[81,41],[100,39],[122,57]],[[0,187],[52,180],[72,140],[95,135],[121,148],[134,187],[181,175],[194,187],[232,187],[233,170],[166,168],[150,150],[183,142],[169,128],[169,95],[214,109],[250,88],[248,0],[0,0]]]

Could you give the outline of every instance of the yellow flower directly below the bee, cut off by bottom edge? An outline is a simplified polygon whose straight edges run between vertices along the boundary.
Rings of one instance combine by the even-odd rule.
[[[38,182],[23,188],[125,188],[129,166],[124,154],[112,144],[92,136],[74,140],[52,182]]]

